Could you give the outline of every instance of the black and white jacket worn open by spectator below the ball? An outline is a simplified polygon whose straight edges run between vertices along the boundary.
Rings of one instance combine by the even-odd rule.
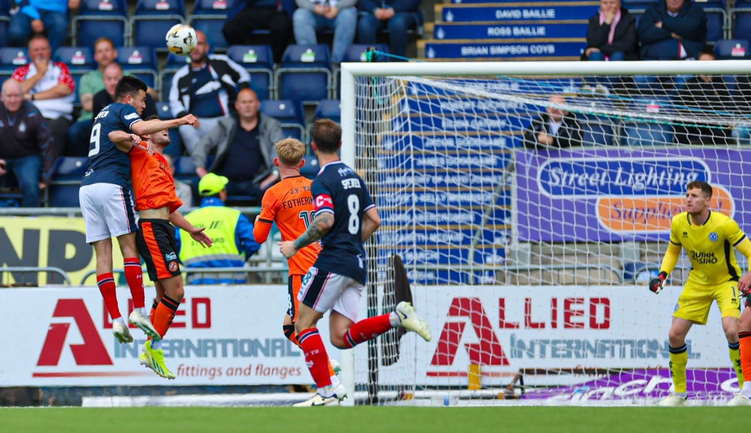
[[[209,54],[208,57],[209,61],[206,68],[210,68],[214,81],[219,83],[219,86],[224,90],[219,97],[219,104],[222,104],[222,111],[230,113],[237,92],[250,87],[250,74],[227,56]],[[172,79],[170,110],[176,118],[192,113],[190,90],[193,75],[190,64],[188,64],[179,68]]]

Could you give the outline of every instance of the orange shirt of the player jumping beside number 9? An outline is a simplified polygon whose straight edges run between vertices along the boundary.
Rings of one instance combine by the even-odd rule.
[[[175,179],[170,164],[163,156],[134,146],[128,153],[131,157],[131,182],[136,194],[136,210],[159,209],[169,206],[170,213],[182,206],[175,192]]]

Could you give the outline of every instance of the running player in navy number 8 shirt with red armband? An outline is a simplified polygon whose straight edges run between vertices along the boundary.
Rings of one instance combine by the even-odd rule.
[[[342,128],[328,119],[315,122],[311,146],[321,163],[312,183],[315,218],[308,230],[294,241],[280,242],[282,254],[294,257],[298,251],[321,239],[323,248],[300,288],[300,311],[294,323],[305,362],[318,386],[318,392],[302,405],[339,404],[347,395],[341,383],[332,383],[326,347],[316,323],[331,311],[331,343],[340,349],[375,338],[394,326],[417,332],[426,341],[431,333],[425,320],[409,302],[400,302],[396,311],[357,322],[360,295],[366,282],[363,242],[378,229],[381,219],[365,182],[342,161]]]

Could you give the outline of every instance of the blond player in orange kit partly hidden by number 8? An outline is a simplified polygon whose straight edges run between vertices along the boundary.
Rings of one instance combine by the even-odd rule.
[[[274,222],[282,232],[282,241],[288,241],[297,239],[305,233],[313,219],[313,196],[310,193],[312,180],[300,175],[300,168],[305,165],[305,144],[294,138],[286,138],[276,143],[276,155],[278,156],[274,158],[274,165],[279,167],[282,180],[267,189],[261,200],[261,215],[255,218],[253,229],[255,242],[258,243],[266,242],[271,224]],[[319,251],[321,243],[312,242],[288,260],[288,303],[282,329],[284,335],[297,345],[297,332],[294,332],[294,322],[297,320],[297,312],[300,311],[297,294],[300,293],[303,275],[313,266]],[[336,371],[330,364],[331,361],[331,380],[338,382]]]

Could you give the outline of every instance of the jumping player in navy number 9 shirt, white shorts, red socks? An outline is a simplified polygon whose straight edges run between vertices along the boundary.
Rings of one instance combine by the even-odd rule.
[[[131,289],[134,310],[128,321],[151,338],[159,334],[146,316],[143,279],[136,249],[137,226],[133,215],[128,179],[131,164],[128,155],[119,151],[109,138],[112,131],[145,135],[193,125],[192,115],[161,121],[140,119],[146,107],[146,84],[136,77],[123,77],[115,88],[115,102],[97,114],[89,141],[89,166],[81,179],[78,192],[83,221],[86,222],[86,242],[94,245],[97,284],[104,305],[113,320],[112,332],[121,343],[133,341],[128,326],[117,306],[115,278],[112,275],[112,237],[117,238],[124,261],[125,280]]]

